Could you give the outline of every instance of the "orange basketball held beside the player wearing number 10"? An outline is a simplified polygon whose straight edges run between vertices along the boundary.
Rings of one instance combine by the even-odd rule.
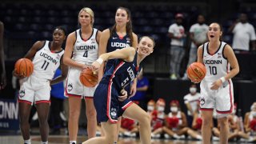
[[[188,78],[193,82],[201,82],[206,76],[206,66],[201,62],[193,62],[186,70]]]

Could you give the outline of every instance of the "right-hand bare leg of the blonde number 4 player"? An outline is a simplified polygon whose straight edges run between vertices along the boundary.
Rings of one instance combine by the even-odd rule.
[[[96,136],[97,119],[96,110],[94,107],[93,98],[86,98],[86,118],[87,118],[87,133],[88,138],[94,138]]]

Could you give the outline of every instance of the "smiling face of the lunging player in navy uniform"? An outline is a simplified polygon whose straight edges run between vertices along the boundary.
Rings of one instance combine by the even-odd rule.
[[[149,37],[142,37],[138,42],[138,54],[150,55],[154,51],[154,41]]]

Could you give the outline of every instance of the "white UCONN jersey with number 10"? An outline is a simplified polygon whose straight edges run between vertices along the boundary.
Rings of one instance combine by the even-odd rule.
[[[209,42],[203,44],[202,58],[206,66],[206,77],[203,80],[214,82],[230,72],[230,63],[224,58],[223,54],[226,42],[221,42],[215,54],[209,53],[208,45]]]

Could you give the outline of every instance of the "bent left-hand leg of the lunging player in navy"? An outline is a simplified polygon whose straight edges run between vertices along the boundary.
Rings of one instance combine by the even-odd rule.
[[[108,122],[101,122],[102,129],[106,132],[104,137],[90,138],[82,144],[103,144],[103,143],[114,143],[115,135],[117,135],[117,124]]]

